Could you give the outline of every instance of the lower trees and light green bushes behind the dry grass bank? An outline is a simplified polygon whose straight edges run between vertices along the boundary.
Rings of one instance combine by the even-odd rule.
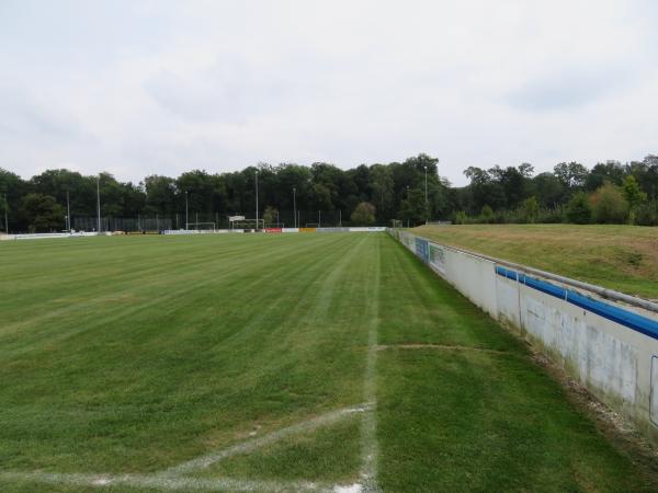
[[[658,156],[588,170],[561,162],[533,175],[533,167],[470,167],[470,184],[455,190],[453,220],[658,225]]]

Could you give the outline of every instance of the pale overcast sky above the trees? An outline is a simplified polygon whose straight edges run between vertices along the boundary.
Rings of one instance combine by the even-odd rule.
[[[0,168],[658,152],[658,1],[0,0]]]

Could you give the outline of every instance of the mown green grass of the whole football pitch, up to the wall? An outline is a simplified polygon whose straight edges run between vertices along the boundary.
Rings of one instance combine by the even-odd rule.
[[[656,486],[385,234],[2,242],[0,317],[3,492],[43,490],[35,471],[161,478],[368,399],[183,478],[347,485],[376,454],[393,492]]]

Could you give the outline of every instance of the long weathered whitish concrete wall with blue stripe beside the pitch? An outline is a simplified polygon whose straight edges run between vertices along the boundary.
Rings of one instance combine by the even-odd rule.
[[[521,333],[658,444],[657,312],[406,231],[393,234],[475,305]]]

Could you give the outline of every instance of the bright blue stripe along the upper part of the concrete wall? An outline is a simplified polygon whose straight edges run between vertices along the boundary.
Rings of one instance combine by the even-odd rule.
[[[500,265],[496,266],[496,274],[508,279],[518,280],[519,283],[536,289],[537,291],[542,291],[554,296],[555,298],[565,300],[571,305],[591,311],[599,317],[603,317],[604,319],[611,320],[620,325],[627,326],[628,329],[658,340],[658,322],[655,320],[648,319],[633,311],[615,307],[614,305],[609,305],[598,299],[590,298],[572,289],[566,289],[552,283],[547,283],[546,280],[540,280],[534,277],[530,277],[523,273],[512,271]]]

